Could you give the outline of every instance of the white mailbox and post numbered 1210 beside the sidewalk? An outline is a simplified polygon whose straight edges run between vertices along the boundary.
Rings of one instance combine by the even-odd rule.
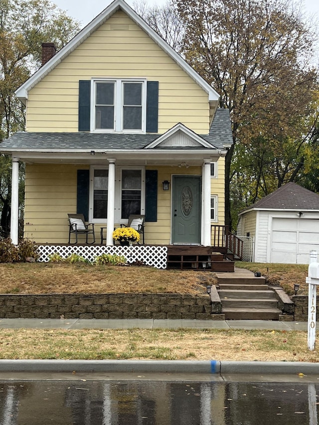
[[[308,268],[308,349],[315,350],[316,345],[316,307],[317,307],[317,285],[319,285],[319,263],[317,263],[317,251],[310,252]]]

